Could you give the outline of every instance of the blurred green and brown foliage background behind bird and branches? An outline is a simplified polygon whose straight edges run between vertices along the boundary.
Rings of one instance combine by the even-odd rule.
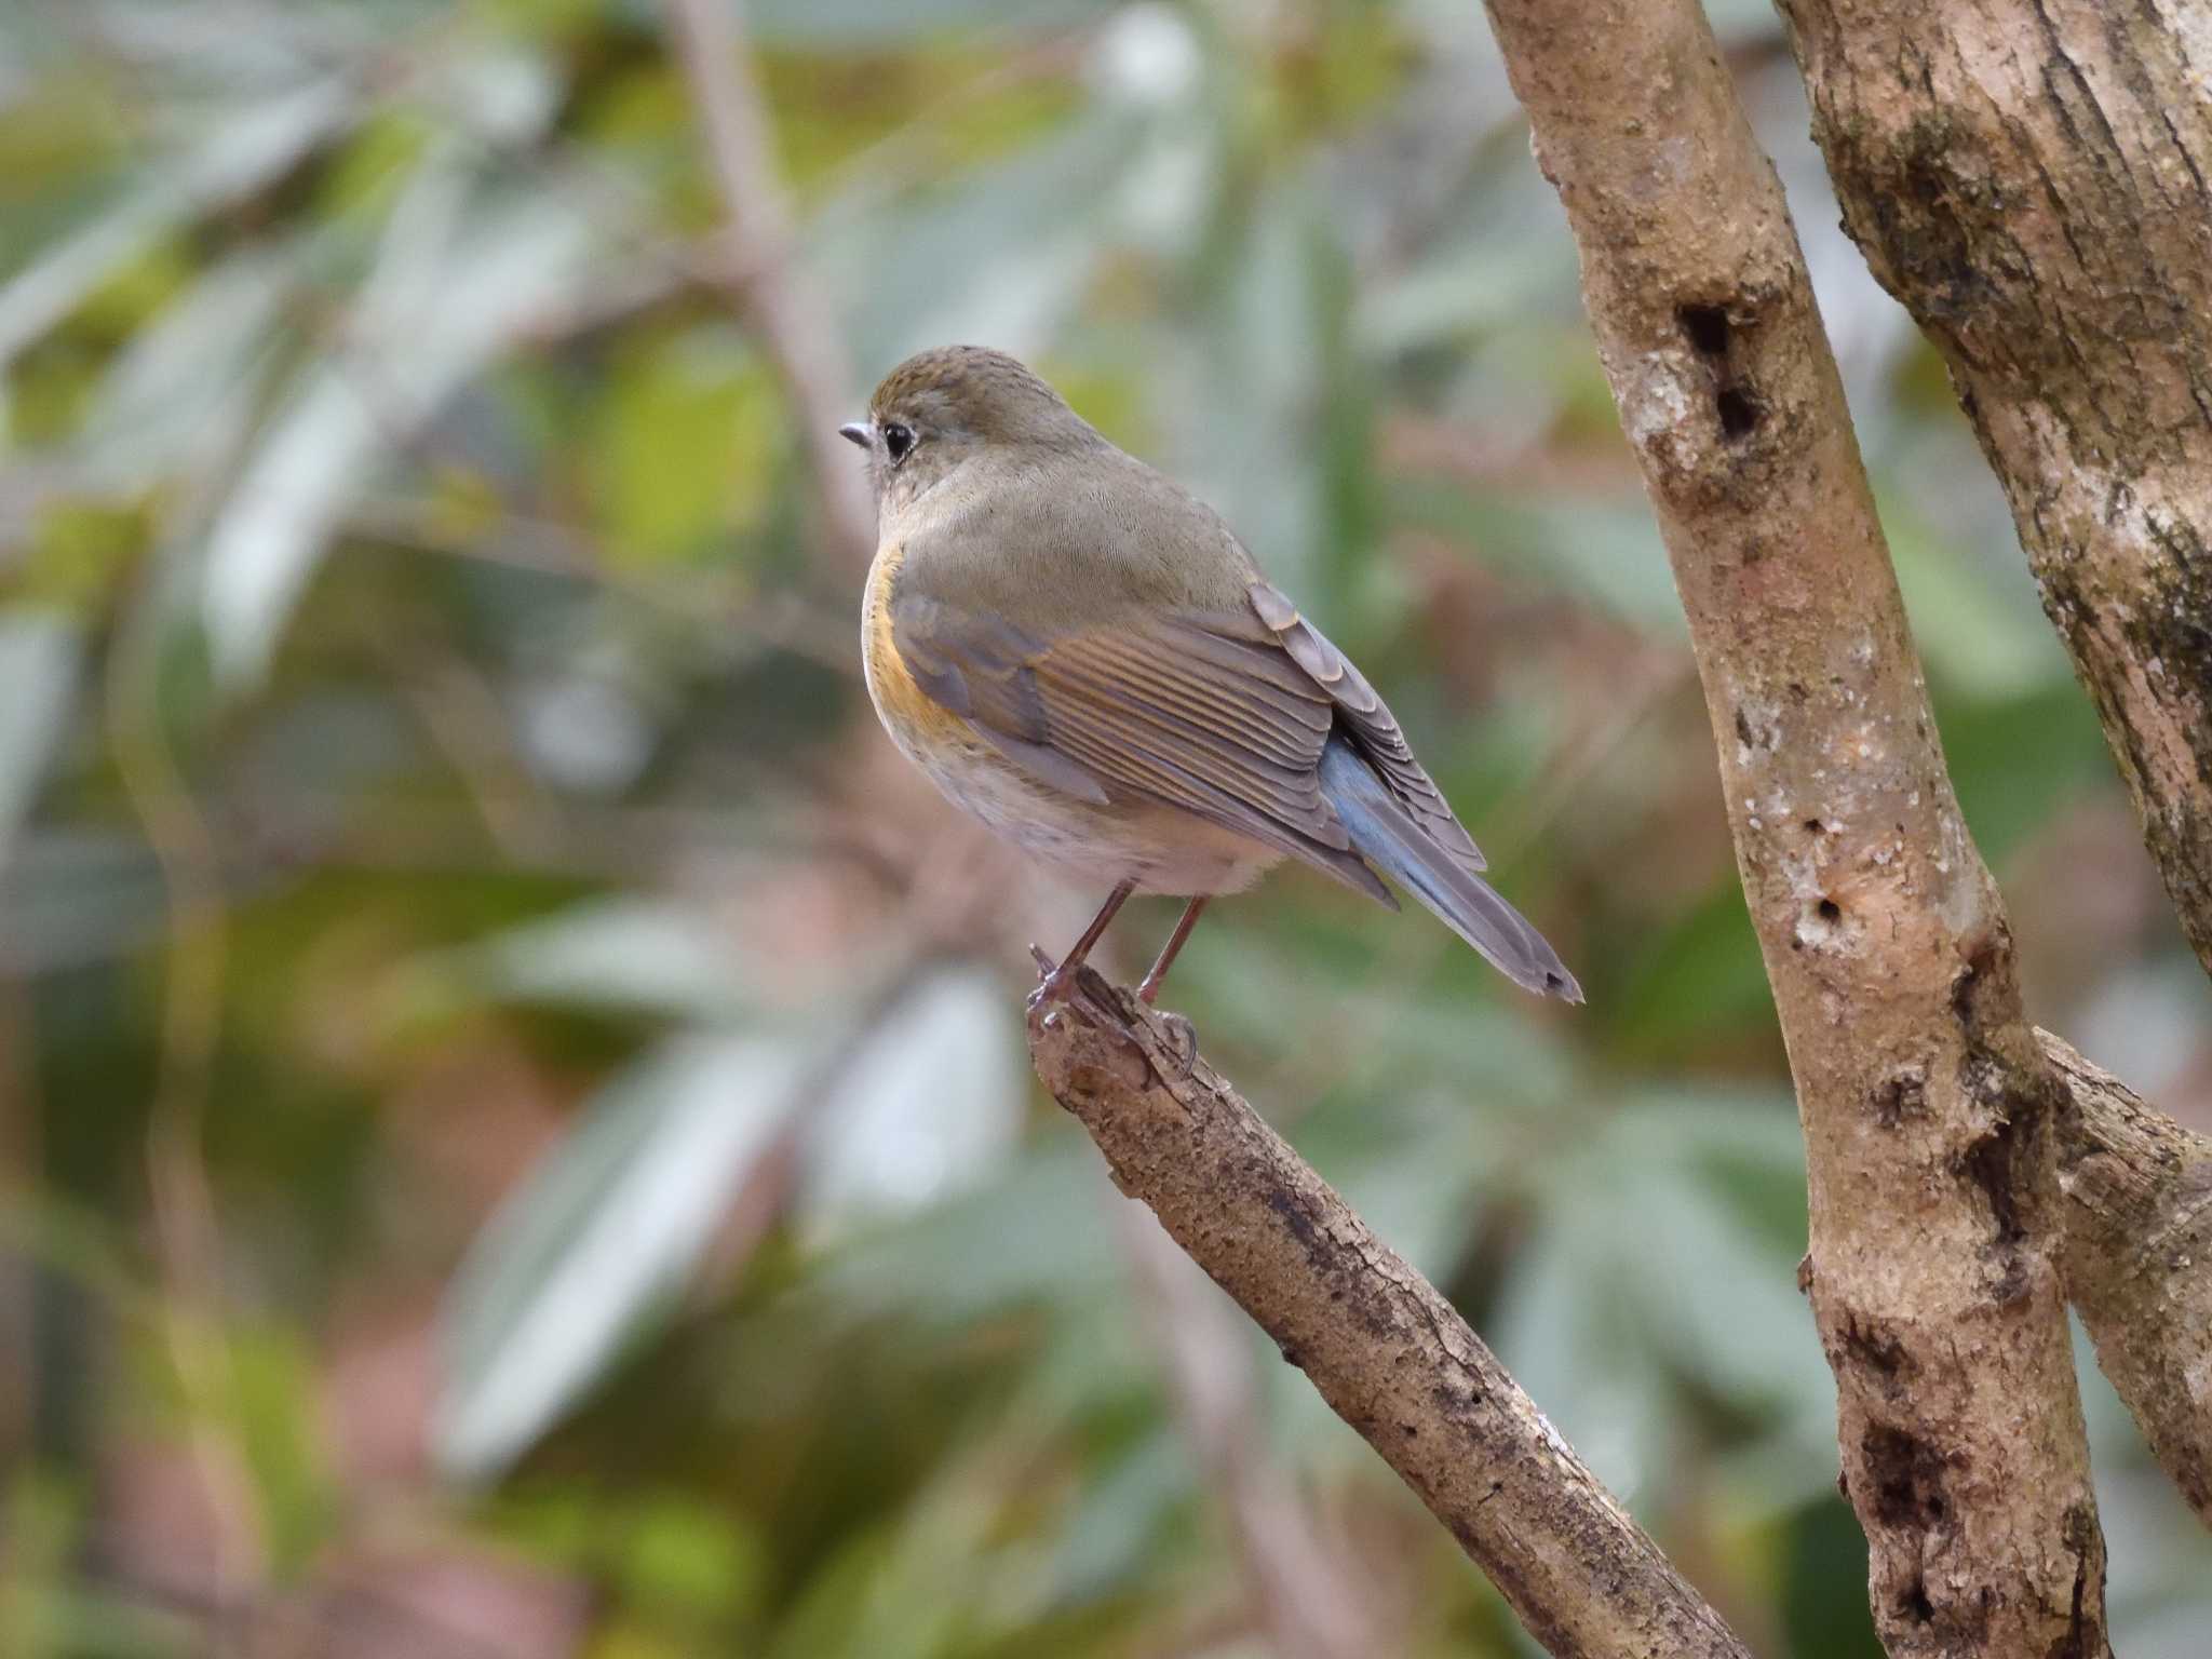
[[[1712,11],[2033,1013],[2212,1128],[1997,491]],[[1590,995],[1285,874],[1177,973],[1208,1055],[1761,1652],[1874,1655],[1712,739],[1480,9],[745,27],[832,392],[1002,345],[1201,489]],[[1528,1652],[1029,1079],[1097,894],[878,737],[723,212],[644,0],[0,7],[0,1652]],[[2117,1648],[2194,1659],[2212,1544],[2084,1378]]]

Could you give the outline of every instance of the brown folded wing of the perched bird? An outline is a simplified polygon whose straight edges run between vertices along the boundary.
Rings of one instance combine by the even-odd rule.
[[[1336,701],[1256,617],[1168,613],[1040,637],[900,593],[891,641],[931,701],[1048,787],[1181,807],[1394,905],[1321,796]]]

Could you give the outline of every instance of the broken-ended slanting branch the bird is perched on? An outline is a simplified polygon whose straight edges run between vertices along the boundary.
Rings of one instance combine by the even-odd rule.
[[[1747,1659],[1467,1321],[1130,993],[1031,1013],[1037,1077],[1555,1659]]]

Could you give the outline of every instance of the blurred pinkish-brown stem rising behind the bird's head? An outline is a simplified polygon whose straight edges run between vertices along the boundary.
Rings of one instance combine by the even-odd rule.
[[[838,564],[865,571],[876,551],[876,509],[852,451],[836,436],[838,422],[858,414],[841,403],[852,392],[852,365],[836,323],[812,290],[792,279],[792,219],[770,159],[768,117],[739,27],[739,0],[666,4],[730,217],[734,257],[714,274],[783,383],[814,473],[825,540]]]

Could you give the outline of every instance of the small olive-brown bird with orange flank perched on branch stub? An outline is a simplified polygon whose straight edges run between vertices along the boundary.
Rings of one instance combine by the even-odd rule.
[[[1376,688],[1206,502],[982,345],[909,356],[838,434],[876,495],[860,644],[885,730],[958,807],[1108,887],[1031,1009],[1133,894],[1172,894],[1152,1004],[1206,902],[1285,858],[1398,909],[1389,876],[1513,984],[1582,1002]]]

